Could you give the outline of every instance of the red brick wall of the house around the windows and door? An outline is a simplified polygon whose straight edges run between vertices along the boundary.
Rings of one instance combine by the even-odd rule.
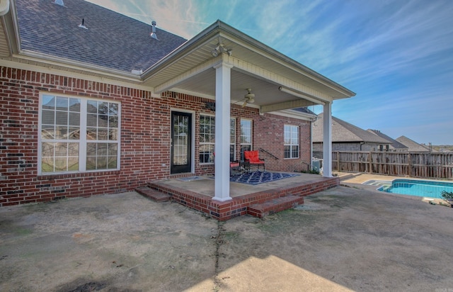
[[[120,170],[82,174],[38,175],[39,94],[63,94],[121,103]],[[200,165],[198,128],[200,113],[214,114],[209,99],[174,92],[161,97],[125,86],[60,77],[22,69],[0,67],[0,206],[52,201],[131,191],[147,181],[170,176],[171,110],[195,113],[195,174],[212,174],[213,165]],[[293,171],[309,162],[310,124],[294,118],[265,114],[257,109],[232,106],[231,115],[253,120],[253,147],[262,147],[266,169]],[[283,159],[283,125],[299,125],[301,157]],[[239,135],[237,141],[239,153]]]

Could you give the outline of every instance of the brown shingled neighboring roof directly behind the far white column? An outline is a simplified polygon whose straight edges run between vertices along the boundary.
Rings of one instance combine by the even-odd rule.
[[[323,113],[318,115],[314,122],[313,142],[323,142]],[[391,144],[389,140],[379,137],[352,125],[339,118],[332,117],[332,142],[369,142],[377,144]]]

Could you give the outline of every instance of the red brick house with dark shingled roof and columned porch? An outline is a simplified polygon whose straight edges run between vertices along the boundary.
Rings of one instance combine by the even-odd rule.
[[[222,21],[185,40],[83,0],[1,9],[0,206],[204,174],[228,201],[231,159],[260,150],[266,170],[302,169],[305,107],[328,121],[355,95]]]

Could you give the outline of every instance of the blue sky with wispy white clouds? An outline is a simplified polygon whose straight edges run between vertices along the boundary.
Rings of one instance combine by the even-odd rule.
[[[187,39],[220,19],[354,91],[333,116],[453,145],[451,0],[88,1]]]

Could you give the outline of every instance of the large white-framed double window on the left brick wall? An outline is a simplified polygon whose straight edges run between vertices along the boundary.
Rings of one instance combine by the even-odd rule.
[[[119,169],[120,103],[40,98],[38,173]]]

